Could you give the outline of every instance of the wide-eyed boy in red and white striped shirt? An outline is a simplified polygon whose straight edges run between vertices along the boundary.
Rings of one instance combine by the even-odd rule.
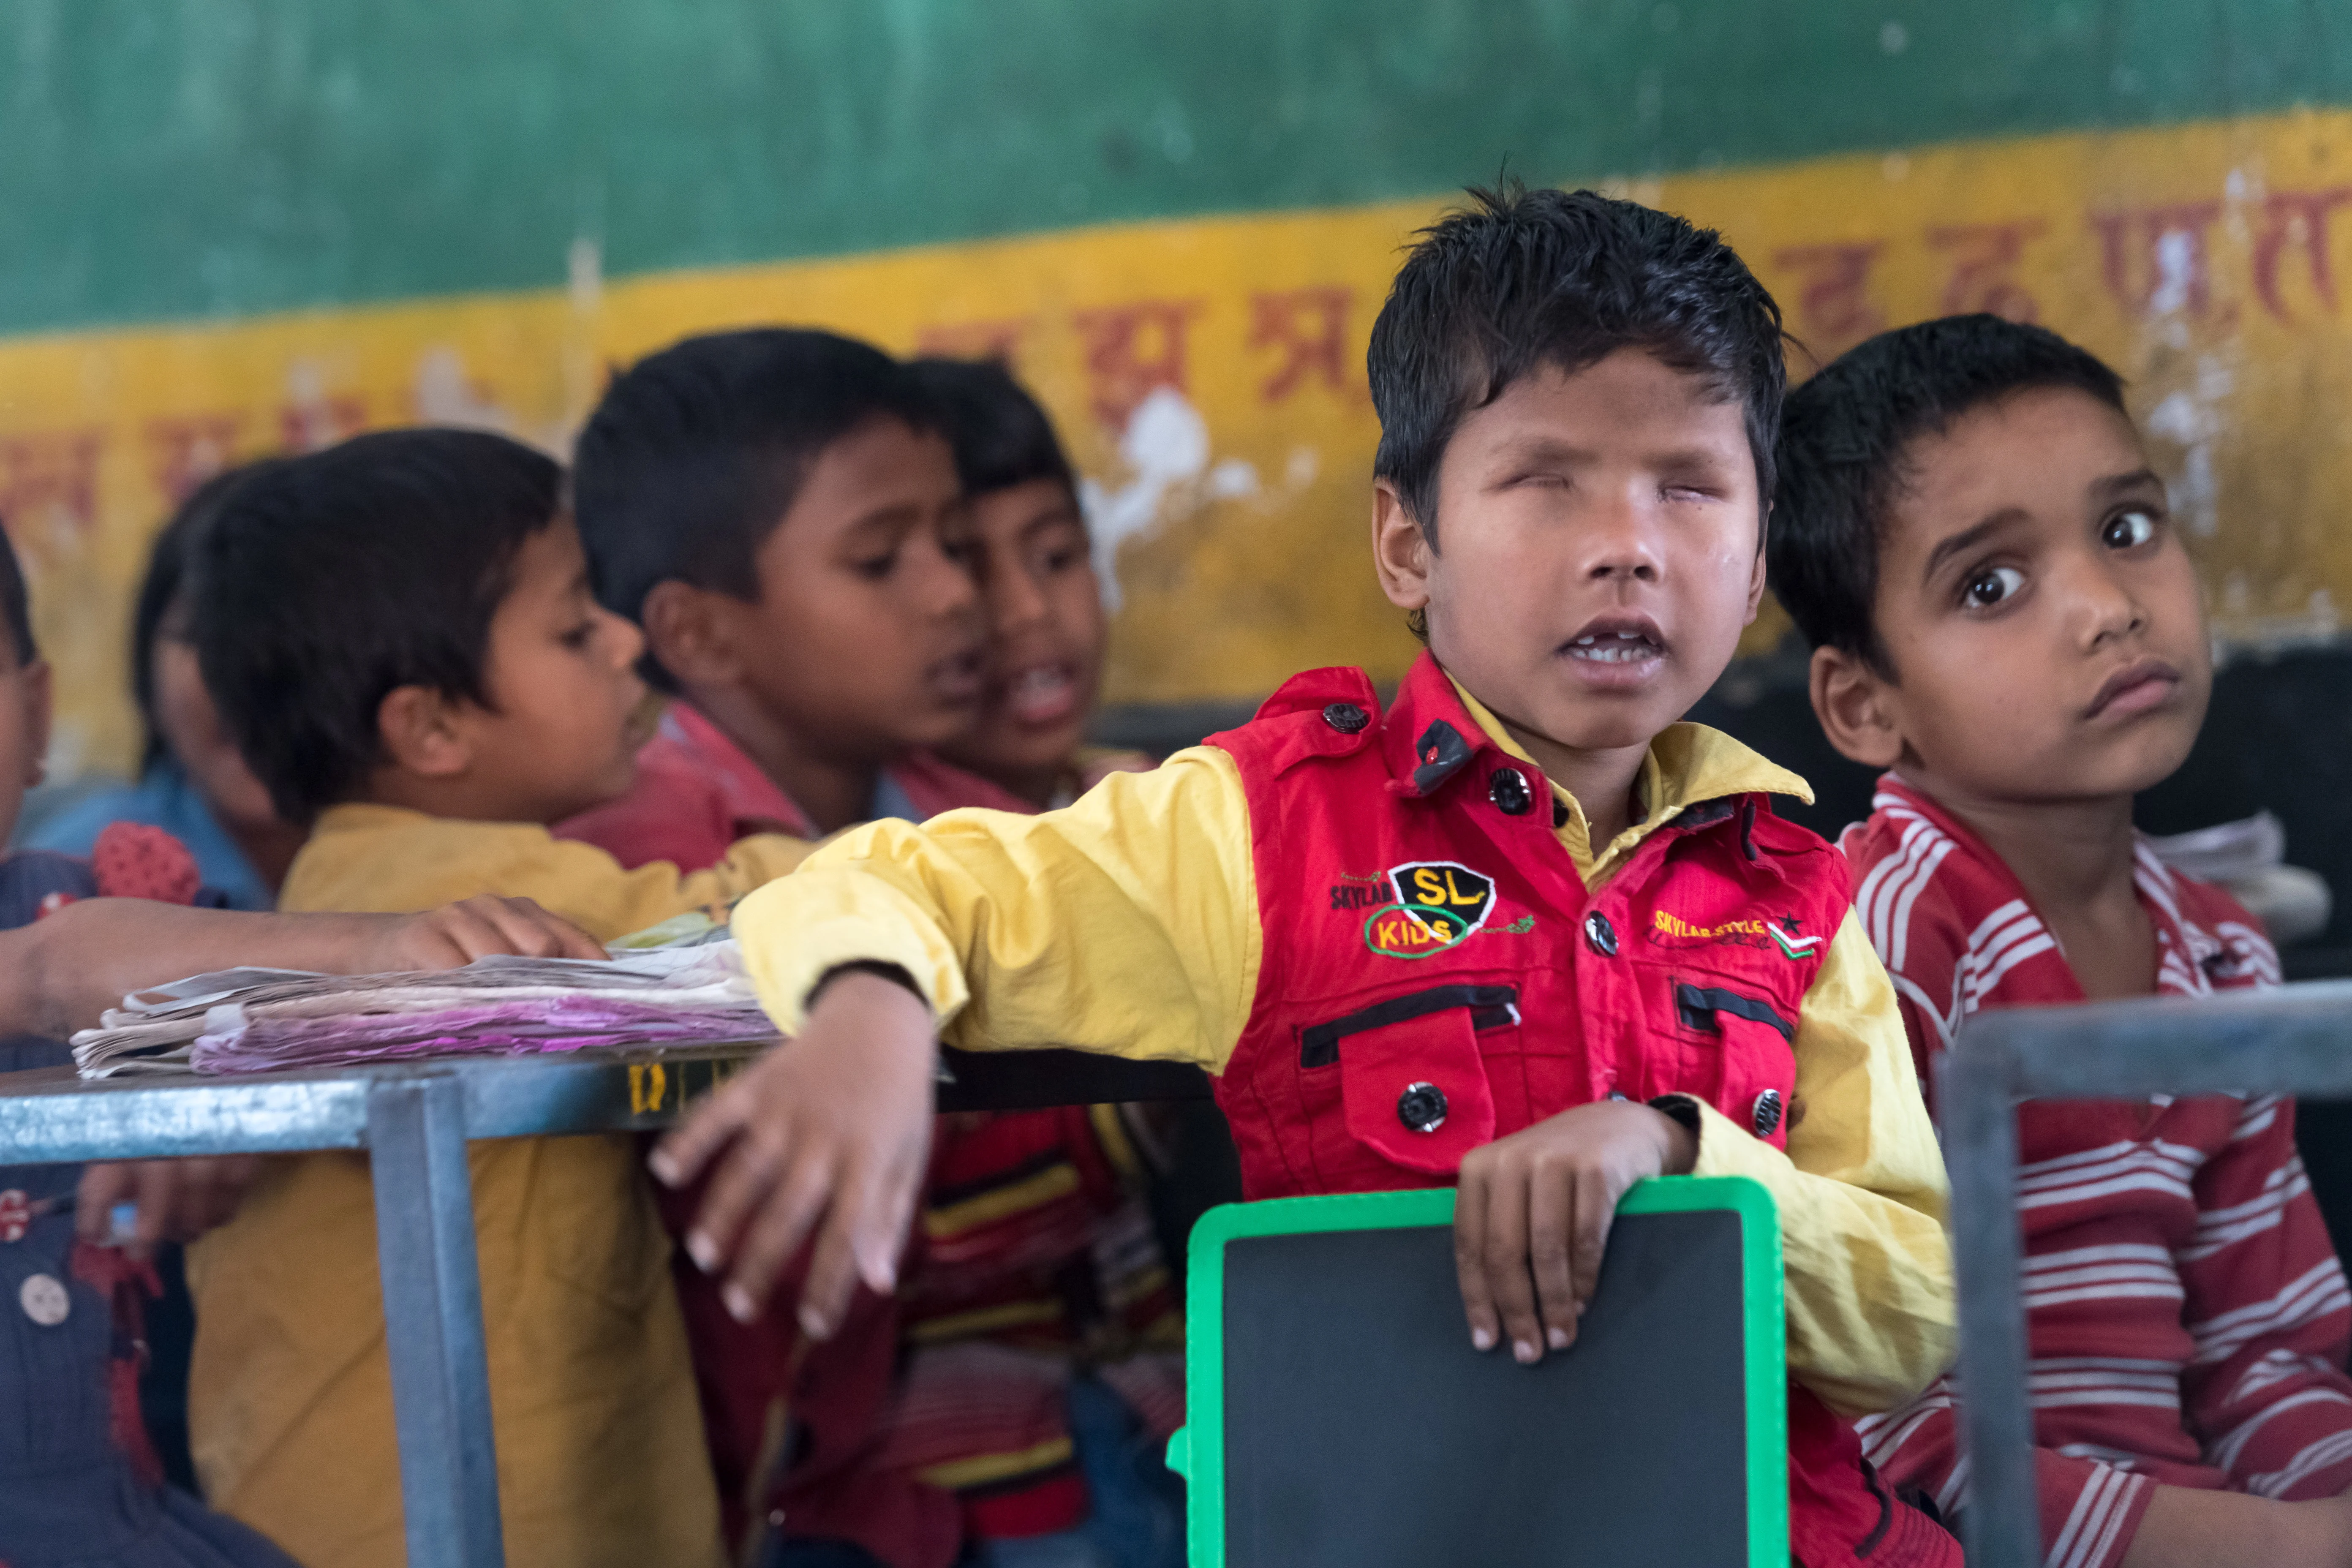
[[[1922,1079],[1978,1009],[2277,983],[2258,922],[2131,827],[2211,654],[2112,369],[1994,315],[1849,350],[1790,397],[1771,581],[1830,741],[1889,769],[1844,849]],[[2018,1133],[2049,1563],[2352,1561],[2352,1295],[2293,1103],[2025,1105]],[[1945,1514],[1952,1406],[1865,1422]]]

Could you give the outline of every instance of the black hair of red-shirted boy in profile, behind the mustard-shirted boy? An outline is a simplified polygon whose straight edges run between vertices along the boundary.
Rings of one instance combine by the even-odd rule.
[[[757,599],[755,557],[809,465],[873,418],[938,425],[903,364],[830,331],[713,331],[637,360],[604,388],[572,454],[597,599],[630,621],[673,578]],[[652,654],[642,672],[677,689]]]

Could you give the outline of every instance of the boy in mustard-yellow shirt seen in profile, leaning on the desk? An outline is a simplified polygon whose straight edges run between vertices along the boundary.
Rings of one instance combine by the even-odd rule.
[[[195,550],[205,684],[278,811],[287,910],[527,893],[600,940],[790,870],[623,870],[548,823],[628,790],[633,625],[588,592],[562,470],[499,435],[388,430],[240,484]],[[633,1140],[473,1147],[499,1505],[527,1563],[715,1563],[668,1244]],[[198,1469],[313,1568],[402,1561],[367,1161],[285,1161],[191,1251]]]

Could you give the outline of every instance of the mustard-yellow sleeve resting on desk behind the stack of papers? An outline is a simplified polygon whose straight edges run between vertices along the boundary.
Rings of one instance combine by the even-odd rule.
[[[346,825],[348,823],[348,825]],[[536,898],[597,940],[741,898],[809,853],[802,839],[736,839],[720,865],[680,872],[668,860],[623,870],[602,849],[532,823],[456,823],[416,813],[343,813],[287,872],[280,910],[405,914],[496,893]]]

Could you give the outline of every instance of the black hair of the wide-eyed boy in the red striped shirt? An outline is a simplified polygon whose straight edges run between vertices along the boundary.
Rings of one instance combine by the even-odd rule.
[[[1905,454],[1962,414],[2034,388],[2072,388],[2124,414],[2124,378],[2103,360],[1999,315],[1882,331],[1790,393],[1766,574],[1811,646],[1893,679],[1872,607]]]

